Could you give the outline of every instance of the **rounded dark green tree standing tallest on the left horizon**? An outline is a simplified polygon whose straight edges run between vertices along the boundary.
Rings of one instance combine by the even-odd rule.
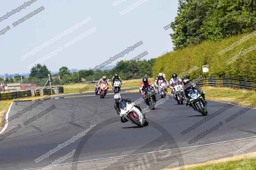
[[[31,68],[29,78],[47,78],[51,71],[45,65],[37,64]]]

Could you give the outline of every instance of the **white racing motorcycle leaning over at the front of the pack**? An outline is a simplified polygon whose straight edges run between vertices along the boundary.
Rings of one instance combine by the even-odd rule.
[[[134,105],[122,101],[119,103],[119,108],[121,110],[120,116],[132,122],[132,124],[136,124],[139,128],[148,126],[148,120]]]

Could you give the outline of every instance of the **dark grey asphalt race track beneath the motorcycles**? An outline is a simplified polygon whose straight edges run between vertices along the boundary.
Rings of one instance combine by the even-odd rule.
[[[127,93],[124,95],[133,100],[141,97],[139,93]],[[157,99],[159,100],[158,95]],[[9,117],[32,105],[34,102],[14,102],[9,112]],[[137,128],[137,126],[130,122],[120,122],[113,104],[112,94],[107,95],[105,99],[100,99],[99,96],[73,96],[70,98],[45,100],[41,105],[32,108],[31,111],[9,122],[4,133],[17,126],[20,129],[0,141],[0,169],[21,170],[48,166],[55,159],[63,157],[74,149],[76,149],[75,155],[62,161],[60,164],[211,144],[256,136],[255,109],[250,109],[226,123],[225,119],[245,108],[233,106],[196,129],[182,135],[181,132],[183,130],[203,120],[205,116],[193,111],[190,107],[178,105],[171,97],[162,105],[157,106],[155,110],[147,113],[149,125],[143,128]],[[23,124],[32,116],[52,105],[56,109],[26,126]],[[208,101],[207,116],[226,105],[228,104]],[[145,107],[146,105],[142,102],[141,108]],[[200,138],[197,142],[188,144],[188,141],[201,132],[214,127],[220,122],[223,122],[223,125],[218,129]],[[49,152],[59,144],[64,143],[93,125],[95,126],[84,137],[77,139],[74,143],[69,144],[38,163],[34,161],[44,153]],[[174,159],[176,159],[179,165],[183,164],[182,155],[178,154]],[[154,168],[163,167],[165,165],[161,164],[155,165]],[[76,165],[72,166],[72,170],[76,169]],[[97,169],[97,167],[87,167],[87,169]],[[105,169],[112,169],[111,165]]]

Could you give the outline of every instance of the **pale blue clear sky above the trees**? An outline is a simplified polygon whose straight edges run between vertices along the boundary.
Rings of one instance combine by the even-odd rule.
[[[28,1],[3,1],[0,17]],[[12,26],[12,23],[41,6],[44,7],[43,11]],[[123,13],[125,9],[126,13]],[[130,60],[144,51],[148,52],[145,59],[158,57],[172,51],[169,36],[172,29],[165,30],[164,26],[174,21],[177,9],[178,0],[37,0],[0,22],[0,31],[10,26],[10,30],[0,35],[0,74],[28,73],[30,64],[60,47],[62,50],[50,57],[48,55],[42,62],[51,71],[58,71],[62,66],[69,69],[94,68],[139,41],[143,41],[143,44],[109,65]],[[21,60],[26,53],[88,17],[89,22]],[[79,36],[88,31],[90,33],[86,36]],[[65,44],[76,37],[80,37],[79,41],[65,48]]]

